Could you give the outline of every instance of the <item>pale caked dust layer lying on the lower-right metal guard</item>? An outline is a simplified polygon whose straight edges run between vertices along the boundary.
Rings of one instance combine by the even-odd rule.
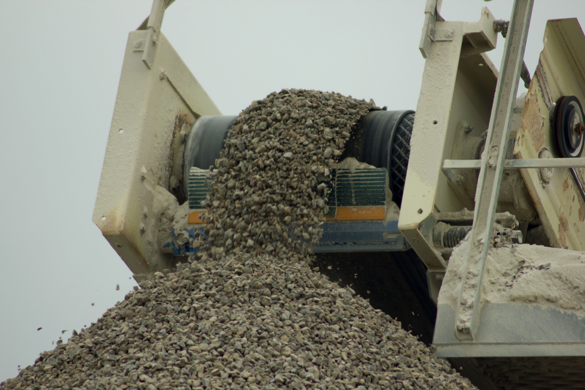
[[[439,303],[457,302],[469,239],[449,260]],[[585,317],[585,254],[529,244],[490,248],[483,299],[486,303],[535,303]]]

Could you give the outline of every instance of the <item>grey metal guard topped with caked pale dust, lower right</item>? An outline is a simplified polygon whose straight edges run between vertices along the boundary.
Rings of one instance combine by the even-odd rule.
[[[463,266],[469,238],[453,251],[443,278],[433,337],[436,356],[455,358],[464,370],[480,371],[497,389],[585,388],[583,371],[574,373],[568,382],[551,379],[563,372],[563,364],[556,360],[583,361],[585,357],[583,252],[531,244],[491,248],[486,283],[481,286],[480,326],[473,341],[467,341],[458,339],[453,329],[467,272]],[[491,361],[499,368],[489,372],[481,364],[474,368],[472,363],[479,361]],[[550,362],[550,366],[534,370],[539,361]],[[501,370],[506,362],[510,367]]]

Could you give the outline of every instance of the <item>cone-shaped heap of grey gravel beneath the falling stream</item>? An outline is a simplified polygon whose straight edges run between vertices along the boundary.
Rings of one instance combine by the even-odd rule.
[[[239,254],[156,278],[2,388],[470,388],[305,264]]]

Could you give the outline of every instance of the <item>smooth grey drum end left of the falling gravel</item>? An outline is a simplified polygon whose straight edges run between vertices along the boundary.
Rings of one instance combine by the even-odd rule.
[[[232,122],[238,115],[201,116],[197,119],[185,140],[183,152],[183,188],[185,199],[188,198],[187,182],[192,167],[209,169],[215,165],[223,142],[232,128]]]

